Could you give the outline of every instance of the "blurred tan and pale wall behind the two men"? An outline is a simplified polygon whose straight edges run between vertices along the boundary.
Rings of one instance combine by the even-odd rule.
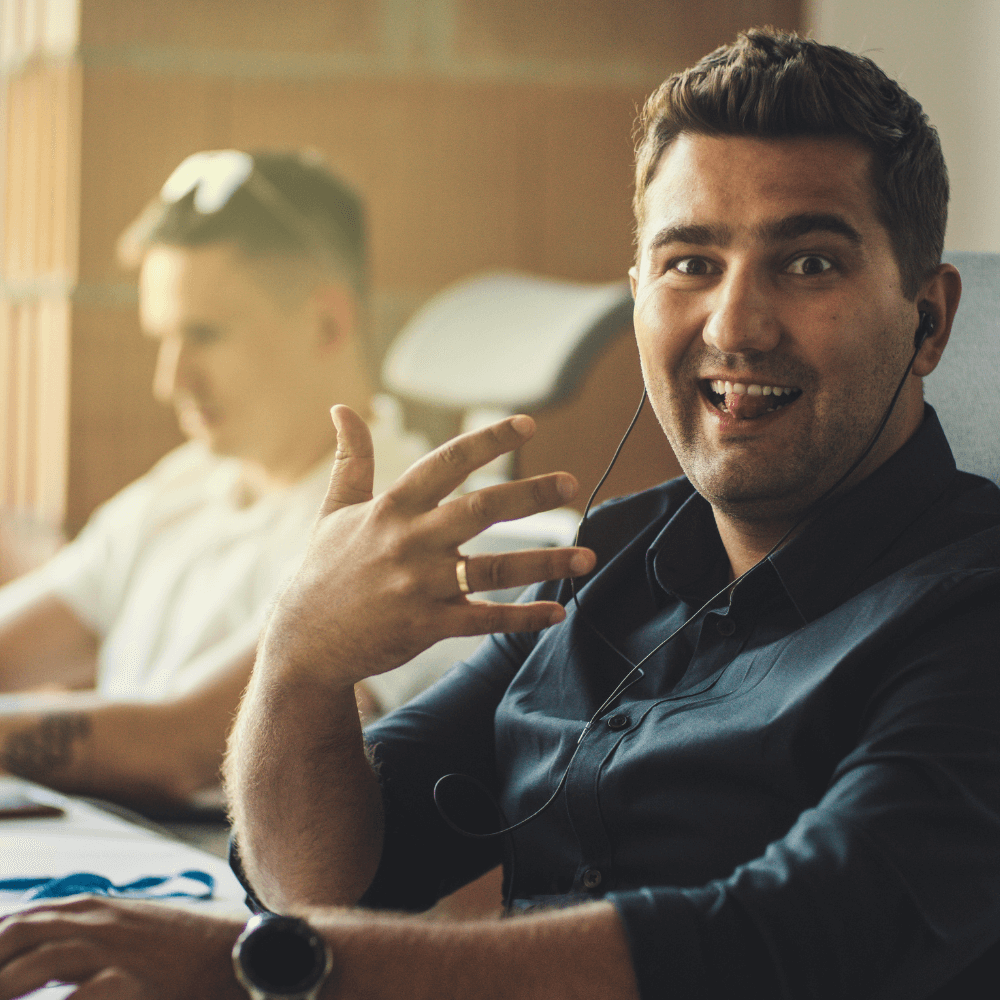
[[[0,507],[33,526],[29,561],[180,441],[173,412],[150,396],[154,345],[114,246],[195,150],[312,147],[352,182],[368,204],[374,322],[388,341],[475,272],[623,278],[637,107],[670,72],[770,23],[864,51],[899,77],[944,140],[949,248],[1000,250],[995,0],[0,9]],[[519,471],[595,482],[640,388],[626,328],[573,400],[538,414]],[[637,434],[609,495],[676,474],[648,413]]]

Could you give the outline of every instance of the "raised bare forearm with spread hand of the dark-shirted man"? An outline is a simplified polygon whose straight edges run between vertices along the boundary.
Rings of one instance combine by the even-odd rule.
[[[451,442],[372,498],[371,435],[334,407],[337,457],[313,538],[265,631],[227,762],[243,870],[266,905],[352,904],[382,854],[382,801],[354,685],[448,636],[532,632],[565,617],[554,602],[501,605],[466,593],[580,575],[589,550],[477,556],[458,545],[499,520],[564,503],[565,474],[441,501],[471,472],[519,447],[515,417]]]

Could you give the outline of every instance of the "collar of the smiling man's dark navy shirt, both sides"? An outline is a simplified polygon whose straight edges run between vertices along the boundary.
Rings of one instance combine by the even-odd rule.
[[[925,404],[924,420],[909,441],[776,552],[768,576],[776,574],[804,621],[819,618],[841,603],[851,582],[955,473],[937,414]],[[692,492],[654,539],[646,571],[654,595],[666,592],[692,605],[725,585],[728,561],[712,507],[700,494]]]

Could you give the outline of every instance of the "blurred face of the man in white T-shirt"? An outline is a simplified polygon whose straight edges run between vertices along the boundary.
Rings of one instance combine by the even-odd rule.
[[[314,363],[306,303],[280,301],[225,243],[154,246],[142,265],[143,331],[160,342],[153,394],[214,452],[271,467],[302,426]]]

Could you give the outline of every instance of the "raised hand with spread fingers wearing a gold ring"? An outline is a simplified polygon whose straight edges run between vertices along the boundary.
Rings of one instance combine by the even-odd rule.
[[[459,546],[497,521],[559,507],[576,493],[567,473],[502,483],[442,503],[475,469],[520,447],[530,417],[502,420],[447,442],[372,499],[374,452],[364,421],[333,409],[337,455],[302,566],[264,638],[269,658],[355,683],[405,663],[439,639],[536,631],[562,621],[551,601],[496,604],[459,588]],[[589,572],[589,549],[470,556],[471,591]]]

